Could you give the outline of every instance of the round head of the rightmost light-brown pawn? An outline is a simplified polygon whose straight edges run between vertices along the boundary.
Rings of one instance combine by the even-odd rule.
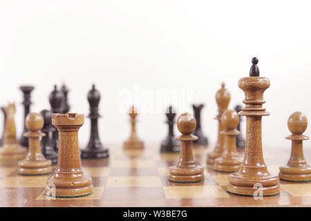
[[[293,134],[302,134],[308,126],[308,119],[300,111],[296,111],[288,118],[288,129]]]

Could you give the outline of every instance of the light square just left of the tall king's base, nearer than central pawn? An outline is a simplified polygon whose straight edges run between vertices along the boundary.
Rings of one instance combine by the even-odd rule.
[[[163,186],[167,199],[229,198],[220,186]]]

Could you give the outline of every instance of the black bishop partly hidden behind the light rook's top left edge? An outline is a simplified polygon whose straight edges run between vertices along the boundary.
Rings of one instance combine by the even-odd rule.
[[[50,101],[50,107],[52,109],[52,113],[61,113],[62,112],[62,100],[64,99],[64,95],[62,92],[57,90],[57,86],[54,85],[54,90],[50,93],[50,97],[48,97]],[[58,152],[58,132],[57,129],[52,127],[52,139],[50,142],[50,146]]]

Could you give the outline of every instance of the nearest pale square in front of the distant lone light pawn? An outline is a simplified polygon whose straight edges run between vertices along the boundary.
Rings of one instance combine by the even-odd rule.
[[[121,167],[121,168],[146,168],[146,167],[156,167],[156,160],[112,160],[111,167]]]

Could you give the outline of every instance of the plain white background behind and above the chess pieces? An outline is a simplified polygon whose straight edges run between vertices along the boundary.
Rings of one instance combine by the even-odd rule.
[[[53,84],[64,79],[71,112],[87,115],[86,95],[95,83],[102,94],[101,140],[122,143],[130,129],[120,111],[122,91],[187,88],[194,102],[205,103],[203,130],[216,142],[215,93],[225,81],[229,108],[241,103],[238,79],[248,76],[256,56],[261,76],[271,81],[264,95],[271,115],[263,117],[263,144],[289,151],[289,115],[302,111],[311,119],[310,21],[308,1],[1,0],[0,103],[17,103],[21,135],[20,85],[35,86],[32,111],[39,112],[50,108]],[[178,111],[191,111],[190,104]],[[164,113],[138,119],[145,142],[167,134]],[[80,142],[88,141],[89,130],[86,119]]]

